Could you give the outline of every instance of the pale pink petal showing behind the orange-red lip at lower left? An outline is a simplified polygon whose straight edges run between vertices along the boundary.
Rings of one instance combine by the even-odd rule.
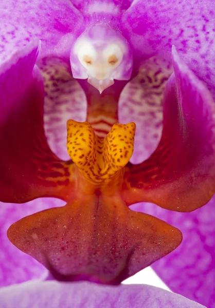
[[[43,265],[21,252],[9,241],[7,229],[12,223],[27,215],[63,204],[63,201],[51,198],[19,205],[0,202],[0,286],[42,279],[47,275],[47,269]]]

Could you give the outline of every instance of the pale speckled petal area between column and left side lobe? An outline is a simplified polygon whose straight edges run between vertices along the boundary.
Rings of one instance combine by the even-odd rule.
[[[70,64],[59,57],[38,62],[44,80],[44,128],[48,144],[61,159],[69,160],[66,122],[86,120],[86,97],[71,75]]]

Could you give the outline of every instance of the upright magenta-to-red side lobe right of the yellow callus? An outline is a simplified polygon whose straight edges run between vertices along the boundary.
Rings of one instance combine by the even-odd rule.
[[[128,166],[124,199],[191,211],[214,194],[215,106],[174,48],[173,67],[164,94],[162,139],[147,161]]]

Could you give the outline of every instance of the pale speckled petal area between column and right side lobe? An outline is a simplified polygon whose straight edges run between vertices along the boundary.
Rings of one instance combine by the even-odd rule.
[[[136,123],[132,163],[146,160],[157,147],[163,127],[164,88],[172,71],[169,61],[151,57],[121,92],[119,123]]]

